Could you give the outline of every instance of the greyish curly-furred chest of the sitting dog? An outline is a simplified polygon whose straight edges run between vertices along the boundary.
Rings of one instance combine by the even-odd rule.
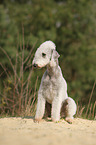
[[[43,96],[51,103],[58,92],[57,79],[47,75],[42,83]]]

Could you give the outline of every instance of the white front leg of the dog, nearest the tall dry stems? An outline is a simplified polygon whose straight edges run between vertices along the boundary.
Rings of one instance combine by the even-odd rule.
[[[44,111],[45,111],[45,99],[41,95],[39,95],[35,115],[35,122],[39,122],[42,119]]]

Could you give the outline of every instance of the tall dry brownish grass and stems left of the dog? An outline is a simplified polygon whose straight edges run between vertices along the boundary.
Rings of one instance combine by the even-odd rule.
[[[1,115],[7,114],[12,116],[24,116],[32,115],[35,112],[36,104],[36,87],[38,82],[38,77],[35,83],[35,90],[31,86],[31,77],[32,77],[32,50],[30,50],[27,57],[24,56],[24,29],[23,32],[23,47],[20,44],[20,53],[17,51],[15,63],[13,64],[11,58],[7,52],[0,48],[1,51],[6,55],[12,71],[10,72],[5,66],[1,63],[3,72],[0,74],[0,77],[5,73],[6,80],[3,81],[4,89],[3,92],[0,92],[1,103],[0,103],[0,113]],[[35,44],[34,44],[35,45]],[[18,47],[18,46],[17,46]],[[30,66],[29,66],[30,65]],[[30,70],[26,74],[27,69],[30,67]],[[31,86],[31,87],[30,87]]]

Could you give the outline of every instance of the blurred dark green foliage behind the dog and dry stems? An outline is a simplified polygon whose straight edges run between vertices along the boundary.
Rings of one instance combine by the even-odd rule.
[[[24,38],[23,38],[24,37]],[[23,40],[24,39],[24,40]],[[0,1],[0,47],[12,63],[16,54],[24,48],[26,58],[31,51],[46,40],[52,40],[60,54],[59,62],[68,83],[68,94],[87,105],[96,79],[96,1],[95,0],[1,0]],[[27,65],[31,65],[27,61]],[[18,65],[20,63],[18,62]],[[6,68],[6,71],[4,68]],[[24,77],[29,74],[27,69]],[[45,69],[34,70],[31,86],[37,90]],[[4,83],[14,77],[8,57],[0,49],[0,93]],[[18,72],[19,73],[19,72]],[[2,96],[0,96],[2,100]],[[96,101],[96,91],[91,102]]]

